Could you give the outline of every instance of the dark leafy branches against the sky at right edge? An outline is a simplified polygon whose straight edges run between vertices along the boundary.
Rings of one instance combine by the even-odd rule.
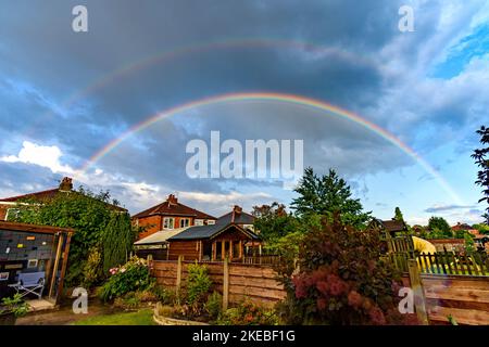
[[[482,188],[482,197],[479,200],[479,203],[488,203],[488,207],[486,207],[486,213],[482,217],[486,219],[486,223],[489,224],[489,128],[481,126],[476,132],[480,136],[480,144],[482,147],[475,150],[472,157],[480,168],[477,172],[476,184]]]

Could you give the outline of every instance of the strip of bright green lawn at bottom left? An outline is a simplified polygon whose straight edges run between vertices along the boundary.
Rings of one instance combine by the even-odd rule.
[[[143,309],[137,312],[103,314],[86,318],[74,323],[75,325],[155,325],[153,310]]]

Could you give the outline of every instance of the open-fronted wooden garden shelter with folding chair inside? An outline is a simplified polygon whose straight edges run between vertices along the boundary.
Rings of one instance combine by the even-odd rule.
[[[18,292],[55,305],[63,292],[74,232],[0,221],[0,298]]]

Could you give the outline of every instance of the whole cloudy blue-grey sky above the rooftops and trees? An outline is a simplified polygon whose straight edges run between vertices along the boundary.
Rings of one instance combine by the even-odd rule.
[[[88,31],[72,29],[76,5]],[[401,5],[414,31],[398,27]],[[489,4],[353,0],[0,0],[0,195],[57,185],[63,176],[109,189],[131,213],[168,193],[221,215],[294,193],[273,179],[192,179],[192,139],[303,140],[304,166],[335,168],[374,216],[401,207],[478,222],[475,130],[489,123]],[[286,100],[310,98],[358,121]],[[123,139],[87,165],[116,139]]]

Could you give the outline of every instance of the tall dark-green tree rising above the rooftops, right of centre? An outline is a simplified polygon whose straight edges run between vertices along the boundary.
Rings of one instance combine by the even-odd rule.
[[[306,168],[294,191],[299,193],[299,197],[292,201],[291,206],[298,217],[333,217],[339,213],[343,223],[354,227],[362,227],[369,219],[371,211],[363,211],[360,200],[352,198],[350,187],[334,169],[319,177],[311,167]]]

